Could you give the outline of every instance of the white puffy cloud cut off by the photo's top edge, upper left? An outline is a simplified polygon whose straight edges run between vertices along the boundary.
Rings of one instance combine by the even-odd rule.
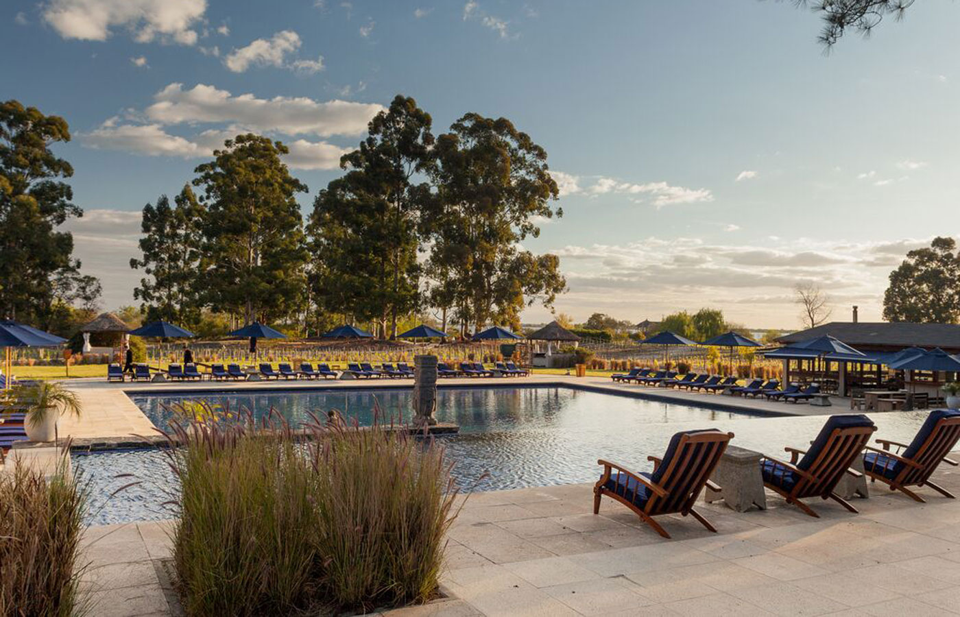
[[[107,40],[117,28],[137,42],[193,45],[206,0],[51,0],[43,19],[64,38]]]

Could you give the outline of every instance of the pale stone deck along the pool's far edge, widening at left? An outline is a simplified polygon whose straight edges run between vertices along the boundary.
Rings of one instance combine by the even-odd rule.
[[[132,436],[156,435],[153,423],[133,404],[126,392],[244,392],[250,390],[300,389],[363,389],[413,388],[410,379],[351,379],[351,380],[282,380],[256,382],[126,382],[107,383],[102,378],[75,379],[67,382],[77,392],[84,414],[78,419],[60,419],[60,438],[70,437],[78,442],[98,439],[129,439]],[[739,411],[762,415],[826,415],[850,413],[848,399],[833,398],[832,407],[814,407],[806,403],[792,404],[766,401],[726,394],[686,392],[668,388],[653,388],[636,384],[613,383],[609,377],[573,377],[567,375],[532,375],[530,377],[492,377],[443,379],[440,388],[480,388],[503,386],[561,386],[586,389],[593,392],[627,394],[666,402],[696,405],[710,409]]]

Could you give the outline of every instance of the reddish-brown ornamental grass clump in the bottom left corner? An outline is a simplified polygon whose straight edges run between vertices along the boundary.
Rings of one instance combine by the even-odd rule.
[[[18,461],[8,465],[0,473],[0,615],[87,614],[79,563],[85,489],[65,460],[50,478]]]

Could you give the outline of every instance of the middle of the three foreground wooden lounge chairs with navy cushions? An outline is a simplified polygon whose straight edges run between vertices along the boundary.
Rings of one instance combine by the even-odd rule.
[[[817,439],[810,444],[809,450],[804,452],[796,448],[784,448],[790,453],[790,463],[768,456],[760,459],[763,486],[780,493],[786,498],[786,503],[796,505],[810,516],[819,518],[820,514],[811,510],[801,499],[829,498],[856,513],[857,510],[833,489],[845,473],[862,476],[853,471],[850,465],[863,452],[874,431],[876,426],[866,415],[831,415],[824,428],[820,429]],[[804,455],[804,458],[798,461],[800,455]]]

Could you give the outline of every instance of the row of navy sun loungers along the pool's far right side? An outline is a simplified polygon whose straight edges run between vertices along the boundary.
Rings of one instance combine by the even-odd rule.
[[[818,384],[810,384],[802,388],[798,384],[790,384],[785,389],[780,390],[780,381],[770,379],[754,379],[746,386],[737,386],[736,377],[720,377],[719,375],[707,375],[697,373],[686,373],[678,378],[677,373],[668,370],[650,370],[649,368],[633,368],[628,373],[617,373],[612,375],[612,380],[620,383],[636,383],[643,386],[662,386],[664,388],[676,388],[678,390],[687,390],[689,392],[726,392],[743,397],[757,398],[765,397],[767,400],[783,400],[791,403],[797,401],[810,400],[815,394],[820,394]]]

